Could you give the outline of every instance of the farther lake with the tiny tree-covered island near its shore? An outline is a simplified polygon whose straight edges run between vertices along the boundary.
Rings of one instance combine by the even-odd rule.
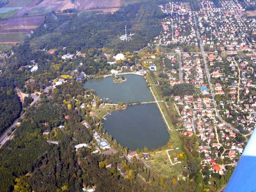
[[[153,101],[150,90],[146,86],[144,77],[134,74],[122,75],[127,80],[116,84],[113,77],[92,79],[85,83],[85,88],[94,89],[104,101],[118,103],[136,103]]]

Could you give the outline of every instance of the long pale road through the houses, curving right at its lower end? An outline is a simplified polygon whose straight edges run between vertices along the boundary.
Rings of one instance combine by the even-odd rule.
[[[216,100],[215,100],[215,95],[214,95],[213,88],[212,88],[212,84],[211,84],[210,73],[209,73],[208,66],[207,66],[207,61],[206,61],[204,46],[203,46],[201,37],[200,37],[200,35],[199,35],[199,31],[198,31],[198,27],[197,27],[197,21],[196,21],[194,12],[193,12],[193,18],[194,18],[194,24],[195,24],[195,30],[196,30],[197,39],[198,39],[198,41],[199,41],[200,48],[201,48],[201,52],[202,52],[202,56],[203,56],[203,62],[204,62],[204,65],[205,65],[205,71],[206,71],[206,75],[207,75],[207,81],[208,81],[208,84],[209,84],[209,87],[210,87],[211,96],[212,96],[212,100],[213,100],[213,105],[214,105],[214,109],[215,109],[216,116],[219,118],[219,120],[220,120],[223,124],[225,124],[225,125],[227,125],[228,127],[230,127],[234,132],[239,132],[236,128],[232,127],[232,125],[230,125],[230,124],[227,123],[225,120],[223,120],[222,117],[219,115],[219,110],[218,110],[218,108],[217,108],[217,103],[216,103]],[[248,139],[247,139],[246,137],[245,137],[245,139],[246,139],[246,141],[248,141]]]

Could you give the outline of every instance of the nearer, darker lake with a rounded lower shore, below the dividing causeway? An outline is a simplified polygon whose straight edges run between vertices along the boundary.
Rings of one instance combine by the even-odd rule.
[[[169,133],[155,104],[137,105],[106,116],[104,128],[130,150],[157,149],[169,140]]]

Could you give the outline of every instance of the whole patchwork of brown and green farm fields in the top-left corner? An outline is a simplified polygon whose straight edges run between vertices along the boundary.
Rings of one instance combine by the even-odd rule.
[[[0,44],[18,43],[31,34],[44,20],[46,13],[78,9],[85,11],[116,12],[121,0],[9,0],[0,9]],[[24,17],[24,15],[28,15]]]

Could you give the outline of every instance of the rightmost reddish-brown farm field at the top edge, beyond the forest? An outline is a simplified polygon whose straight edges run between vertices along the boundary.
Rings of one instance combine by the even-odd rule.
[[[121,6],[121,0],[75,0],[75,9],[116,12]]]

